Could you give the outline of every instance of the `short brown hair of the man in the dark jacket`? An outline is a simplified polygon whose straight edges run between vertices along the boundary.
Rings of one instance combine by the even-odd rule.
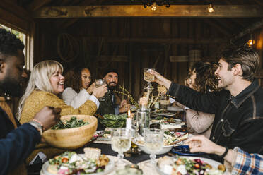
[[[252,47],[228,47],[219,54],[218,59],[223,59],[228,63],[228,71],[236,64],[242,68],[242,78],[253,81],[255,73],[259,67],[259,54]]]

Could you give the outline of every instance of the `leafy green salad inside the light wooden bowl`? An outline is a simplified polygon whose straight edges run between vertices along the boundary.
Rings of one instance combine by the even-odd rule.
[[[78,120],[76,116],[72,116],[69,121],[59,121],[56,125],[52,126],[52,129],[67,129],[67,128],[77,128],[84,125],[88,125],[88,122],[83,121],[83,119]]]

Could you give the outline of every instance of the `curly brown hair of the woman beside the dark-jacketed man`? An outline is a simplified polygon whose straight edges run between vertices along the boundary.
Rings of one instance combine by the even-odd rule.
[[[218,80],[214,74],[217,64],[211,64],[209,62],[196,62],[192,68],[191,73],[196,73],[197,77],[194,80],[193,88],[199,92],[213,92],[220,90]]]

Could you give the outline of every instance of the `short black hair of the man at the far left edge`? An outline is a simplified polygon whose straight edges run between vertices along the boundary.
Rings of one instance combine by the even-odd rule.
[[[23,50],[25,45],[16,35],[0,28],[0,56],[4,60],[8,56],[17,56],[18,49]]]

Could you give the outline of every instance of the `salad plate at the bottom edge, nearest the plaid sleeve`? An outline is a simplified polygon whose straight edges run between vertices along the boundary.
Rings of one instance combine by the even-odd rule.
[[[202,157],[160,157],[155,164],[161,175],[170,174],[223,174],[226,167],[220,162]]]

